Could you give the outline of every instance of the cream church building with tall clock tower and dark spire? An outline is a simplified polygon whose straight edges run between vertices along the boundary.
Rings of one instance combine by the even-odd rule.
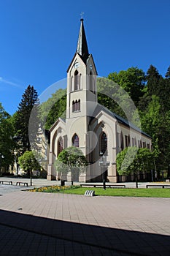
[[[128,146],[151,148],[151,138],[127,120],[98,104],[96,65],[88,52],[83,19],[80,20],[77,50],[67,69],[66,119],[58,118],[50,128],[50,152],[47,179],[61,177],[54,167],[63,148],[81,149],[89,162],[85,173],[67,181],[101,181],[102,172],[107,181],[125,181],[116,170],[116,155]],[[104,169],[101,167],[104,166]]]

